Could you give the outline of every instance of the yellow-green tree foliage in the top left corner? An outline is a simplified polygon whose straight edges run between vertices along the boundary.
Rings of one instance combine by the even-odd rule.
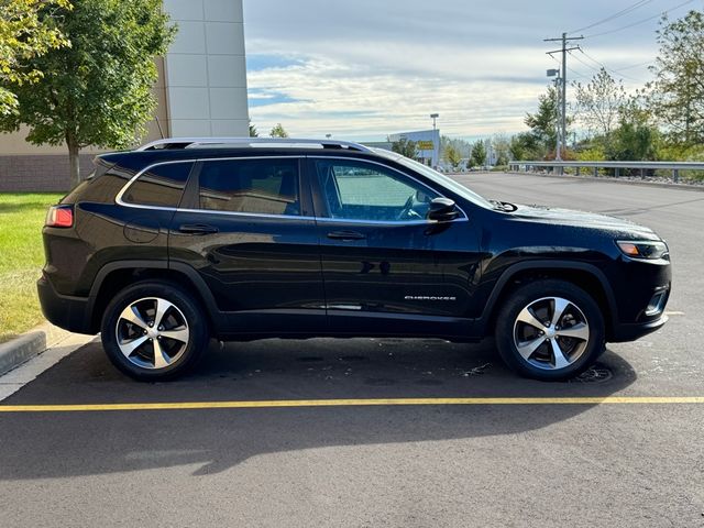
[[[0,1],[0,116],[18,111],[13,85],[43,78],[32,59],[68,45],[56,28],[55,8],[70,9],[70,4],[68,0]]]

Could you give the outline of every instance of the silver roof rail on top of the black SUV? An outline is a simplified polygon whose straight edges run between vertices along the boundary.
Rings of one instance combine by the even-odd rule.
[[[373,152],[370,147],[350,141],[337,140],[297,140],[292,138],[165,138],[152,141],[138,147],[138,151],[154,151],[161,148],[197,148],[216,145],[232,146],[302,146],[319,145],[322,148],[346,148],[359,152]]]

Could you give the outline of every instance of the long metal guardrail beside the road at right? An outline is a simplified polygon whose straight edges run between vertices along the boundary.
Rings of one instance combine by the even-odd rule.
[[[704,162],[508,162],[509,172],[530,173],[540,168],[552,168],[558,174],[574,168],[578,176],[583,168],[592,169],[594,176],[598,176],[600,169],[613,169],[616,177],[623,169],[639,170],[640,177],[646,176],[646,170],[671,170],[672,179],[679,182],[680,170],[704,170]]]

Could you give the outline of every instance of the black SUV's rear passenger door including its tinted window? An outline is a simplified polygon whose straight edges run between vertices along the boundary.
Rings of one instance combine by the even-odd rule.
[[[300,157],[198,162],[169,258],[196,268],[233,333],[324,326],[318,233]]]

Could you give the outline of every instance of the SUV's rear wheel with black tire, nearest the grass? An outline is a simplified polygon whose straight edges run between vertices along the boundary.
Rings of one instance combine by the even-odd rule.
[[[145,280],[110,301],[101,339],[121,372],[141,382],[161,382],[180,376],[200,360],[209,330],[193,295],[173,283]]]

